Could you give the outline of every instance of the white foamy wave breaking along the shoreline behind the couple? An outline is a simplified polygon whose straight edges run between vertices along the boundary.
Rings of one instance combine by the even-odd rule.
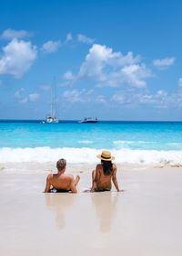
[[[182,165],[182,151],[157,151],[157,150],[131,150],[110,149],[116,157],[116,163],[129,164],[160,164],[160,165]],[[102,150],[93,148],[9,148],[0,149],[0,163],[21,162],[56,162],[59,158],[66,158],[67,162],[73,164],[93,164],[98,161],[96,155]]]

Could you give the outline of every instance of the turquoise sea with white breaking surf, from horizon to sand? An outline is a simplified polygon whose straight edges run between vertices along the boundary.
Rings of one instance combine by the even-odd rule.
[[[118,162],[182,162],[182,122],[0,121],[0,162],[90,163],[108,149]],[[93,157],[94,155],[94,157]]]

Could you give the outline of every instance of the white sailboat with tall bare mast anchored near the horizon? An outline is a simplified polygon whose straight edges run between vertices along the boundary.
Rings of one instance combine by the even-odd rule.
[[[56,113],[56,80],[54,80],[54,84],[51,85],[51,112],[46,115],[46,123],[59,123]]]

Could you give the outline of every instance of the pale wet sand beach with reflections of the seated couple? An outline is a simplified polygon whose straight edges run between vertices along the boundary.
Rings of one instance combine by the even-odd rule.
[[[53,166],[30,166],[0,166],[1,255],[182,255],[182,167],[120,165],[125,192],[90,194],[94,165],[68,165],[73,195],[44,194]]]

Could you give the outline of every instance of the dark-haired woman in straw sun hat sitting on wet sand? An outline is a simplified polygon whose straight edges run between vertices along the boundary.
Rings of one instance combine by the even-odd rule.
[[[122,191],[119,190],[116,180],[116,165],[112,163],[115,157],[111,156],[110,152],[106,150],[102,152],[102,155],[96,155],[96,157],[101,159],[101,164],[96,165],[96,171],[92,172],[92,188],[90,192],[110,191],[112,187],[111,178],[117,192]]]

